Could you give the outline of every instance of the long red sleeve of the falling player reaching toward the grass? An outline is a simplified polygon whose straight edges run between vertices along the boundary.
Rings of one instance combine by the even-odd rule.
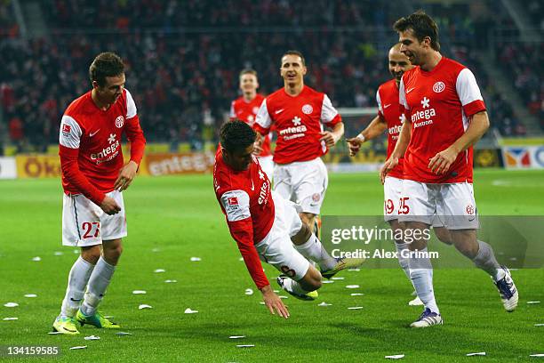
[[[253,225],[252,219],[246,218],[241,221],[234,221],[228,223],[228,230],[230,235],[235,238],[238,249],[244,257],[245,266],[252,276],[253,282],[257,288],[261,289],[264,286],[270,285],[267,275],[262,270],[260,264],[259,254],[255,245],[253,245]]]

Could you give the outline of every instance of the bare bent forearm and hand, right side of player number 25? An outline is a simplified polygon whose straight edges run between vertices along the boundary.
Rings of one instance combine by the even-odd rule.
[[[489,117],[486,111],[480,111],[472,116],[468,129],[448,149],[436,153],[428,162],[428,168],[437,174],[443,174],[450,169],[460,152],[465,151],[478,140],[489,128]]]

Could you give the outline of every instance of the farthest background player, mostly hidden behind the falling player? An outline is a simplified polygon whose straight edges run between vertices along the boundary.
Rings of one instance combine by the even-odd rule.
[[[259,88],[259,80],[257,72],[253,69],[244,69],[240,72],[240,90],[242,96],[232,101],[230,105],[230,121],[236,119],[244,121],[247,125],[255,124],[255,117],[259,111],[264,96],[257,93]],[[270,135],[266,135],[262,141],[261,151],[257,154],[260,167],[267,173],[268,179],[272,180],[274,170],[274,162],[272,161],[272,151],[270,149]]]

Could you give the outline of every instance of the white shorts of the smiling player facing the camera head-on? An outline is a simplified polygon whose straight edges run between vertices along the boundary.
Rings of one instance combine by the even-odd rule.
[[[321,157],[309,161],[274,165],[274,190],[302,207],[302,212],[319,214],[329,177]]]

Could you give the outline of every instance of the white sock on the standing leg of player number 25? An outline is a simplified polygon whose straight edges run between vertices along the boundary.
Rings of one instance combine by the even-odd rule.
[[[427,247],[419,252],[427,252]],[[428,257],[410,257],[410,278],[421,302],[430,311],[440,314],[433,290],[433,270]]]

